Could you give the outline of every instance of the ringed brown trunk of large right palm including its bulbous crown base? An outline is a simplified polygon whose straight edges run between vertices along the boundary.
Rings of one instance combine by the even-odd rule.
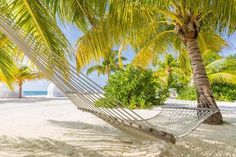
[[[218,109],[198,45],[197,39],[200,26],[194,19],[188,19],[189,20],[185,21],[184,25],[176,25],[175,30],[180,35],[189,52],[194,83],[198,93],[198,107]],[[205,123],[222,124],[223,118],[220,111],[206,119]]]

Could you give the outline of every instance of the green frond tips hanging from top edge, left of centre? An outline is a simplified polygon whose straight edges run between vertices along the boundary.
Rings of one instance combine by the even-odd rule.
[[[95,26],[97,17],[106,10],[106,0],[46,0],[55,17],[76,24],[83,32]]]

